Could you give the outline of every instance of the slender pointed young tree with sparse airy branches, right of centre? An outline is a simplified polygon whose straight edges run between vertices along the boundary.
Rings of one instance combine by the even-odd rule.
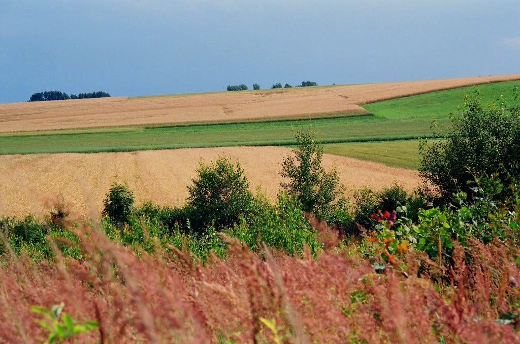
[[[345,186],[335,166],[328,172],[321,166],[323,146],[313,132],[296,133],[296,143],[294,156],[285,158],[280,172],[290,181],[280,185],[302,202],[303,210],[326,218],[344,204]]]

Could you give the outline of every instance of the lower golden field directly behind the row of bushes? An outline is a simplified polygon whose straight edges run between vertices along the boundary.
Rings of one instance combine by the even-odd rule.
[[[148,150],[132,153],[50,154],[0,156],[0,214],[47,213],[48,196],[61,194],[76,211],[95,216],[110,184],[118,175],[135,190],[137,202],[179,204],[187,197],[199,160],[208,163],[226,155],[240,161],[251,182],[274,198],[282,178],[278,172],[291,152],[282,147],[220,147]],[[323,165],[339,167],[341,182],[349,188],[371,184],[375,189],[393,180],[408,190],[419,183],[414,171],[380,163],[324,155]],[[94,209],[89,209],[92,207]]]

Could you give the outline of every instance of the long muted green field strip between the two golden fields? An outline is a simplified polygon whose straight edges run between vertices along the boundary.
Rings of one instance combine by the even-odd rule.
[[[446,125],[449,122],[446,121]],[[0,137],[0,154],[121,152],[217,146],[294,144],[294,130],[311,130],[324,143],[412,139],[431,134],[430,121],[378,116],[298,122],[149,128],[138,132]]]

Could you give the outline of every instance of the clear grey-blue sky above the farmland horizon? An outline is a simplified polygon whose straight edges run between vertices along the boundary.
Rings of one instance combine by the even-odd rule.
[[[520,73],[518,0],[0,0],[0,103]]]

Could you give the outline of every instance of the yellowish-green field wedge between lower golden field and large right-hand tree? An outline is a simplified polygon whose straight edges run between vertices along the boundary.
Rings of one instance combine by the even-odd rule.
[[[323,152],[417,170],[420,159],[418,146],[419,140],[336,143],[324,145]]]

